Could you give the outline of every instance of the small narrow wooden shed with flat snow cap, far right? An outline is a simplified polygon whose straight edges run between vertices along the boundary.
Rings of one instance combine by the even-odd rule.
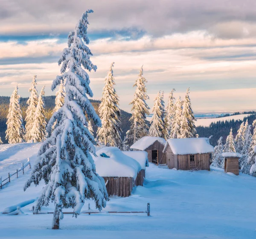
[[[222,153],[221,156],[224,157],[224,172],[239,175],[239,158],[242,155],[226,152]]]

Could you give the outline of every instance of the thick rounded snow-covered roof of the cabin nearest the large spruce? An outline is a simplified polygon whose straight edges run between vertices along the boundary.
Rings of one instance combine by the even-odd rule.
[[[140,163],[125,155],[119,148],[105,147],[96,151],[93,156],[96,173],[102,177],[133,177],[141,170]]]

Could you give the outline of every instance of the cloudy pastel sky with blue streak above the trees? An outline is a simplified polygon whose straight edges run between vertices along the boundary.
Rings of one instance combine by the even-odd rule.
[[[183,98],[190,88],[195,112],[256,109],[255,0],[0,0],[0,95],[16,84],[29,96],[60,74],[58,59],[81,14],[97,65],[90,72],[100,99],[112,62],[120,108],[130,111],[132,87],[143,65],[153,108],[158,91]]]

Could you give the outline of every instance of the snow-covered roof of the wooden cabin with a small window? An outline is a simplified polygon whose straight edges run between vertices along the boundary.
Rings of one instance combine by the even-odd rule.
[[[173,154],[207,154],[214,152],[208,138],[168,139],[163,151],[170,145]]]

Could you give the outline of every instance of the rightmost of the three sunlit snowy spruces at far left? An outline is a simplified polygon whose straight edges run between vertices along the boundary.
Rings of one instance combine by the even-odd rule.
[[[39,98],[38,104],[36,106],[34,122],[31,131],[32,142],[42,142],[46,139],[46,115],[45,115],[45,105],[44,105],[44,87],[42,88]]]

